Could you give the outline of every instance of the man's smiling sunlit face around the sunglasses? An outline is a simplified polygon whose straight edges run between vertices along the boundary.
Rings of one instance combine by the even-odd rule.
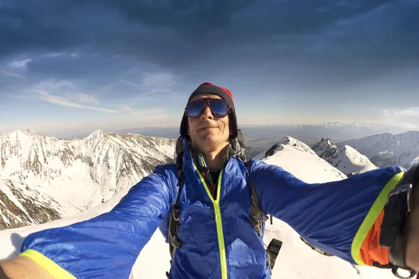
[[[216,95],[199,95],[192,100],[205,98],[217,98]],[[200,151],[216,151],[228,145],[230,130],[228,126],[228,114],[219,117],[212,114],[210,107],[205,107],[203,112],[195,118],[188,117],[188,135],[193,145]]]

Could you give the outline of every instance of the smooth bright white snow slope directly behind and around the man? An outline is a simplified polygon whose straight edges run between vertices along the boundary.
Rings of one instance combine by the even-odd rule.
[[[304,145],[291,137],[287,137],[284,139],[284,142],[276,144],[276,147],[272,148],[270,156],[267,156],[264,160],[267,163],[284,167],[284,169],[292,172],[298,178],[309,183],[344,179],[344,174],[325,162],[325,160],[319,158],[314,151]],[[0,250],[0,259],[17,255],[24,237],[31,232],[87,220],[100,213],[109,211],[126,193],[126,190],[124,189],[122,192],[117,193],[108,202],[80,213],[78,216],[55,220],[43,225],[0,231],[0,246],[2,248]],[[266,225],[265,243],[270,243],[272,238],[279,239],[284,243],[273,270],[272,278],[274,279],[395,278],[389,270],[379,270],[372,267],[359,267],[360,274],[358,275],[348,262],[344,262],[337,257],[325,257],[311,250],[309,246],[300,240],[298,234],[291,227],[277,219],[274,219],[273,225],[270,225],[269,222]],[[170,268],[169,260],[168,244],[165,243],[161,232],[157,229],[152,239],[140,253],[137,262],[135,262],[131,278],[164,279],[166,278],[166,271]]]

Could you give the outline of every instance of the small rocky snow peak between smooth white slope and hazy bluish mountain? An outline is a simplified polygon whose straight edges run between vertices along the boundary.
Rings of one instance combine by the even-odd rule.
[[[347,176],[377,168],[367,156],[362,155],[348,145],[339,147],[328,137],[323,137],[318,143],[314,144],[312,149],[320,158],[323,158]]]

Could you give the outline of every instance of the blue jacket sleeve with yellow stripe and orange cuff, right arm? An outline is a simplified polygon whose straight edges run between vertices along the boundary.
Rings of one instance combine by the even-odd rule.
[[[305,183],[277,165],[251,160],[261,209],[311,245],[358,265],[386,266],[379,246],[387,195],[404,174],[390,166],[327,183]]]

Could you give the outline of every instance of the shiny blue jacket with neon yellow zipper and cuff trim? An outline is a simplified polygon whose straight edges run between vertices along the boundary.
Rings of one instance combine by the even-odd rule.
[[[259,237],[249,223],[247,169],[233,157],[221,171],[216,201],[187,146],[179,239],[170,278],[270,278]],[[276,165],[250,160],[261,209],[284,220],[314,246],[353,264],[403,169],[385,167],[342,181],[304,183]],[[57,278],[128,278],[142,248],[159,227],[168,238],[178,179],[175,165],[159,165],[108,213],[46,229],[24,240],[22,254]],[[164,271],[162,271],[164,272]]]

